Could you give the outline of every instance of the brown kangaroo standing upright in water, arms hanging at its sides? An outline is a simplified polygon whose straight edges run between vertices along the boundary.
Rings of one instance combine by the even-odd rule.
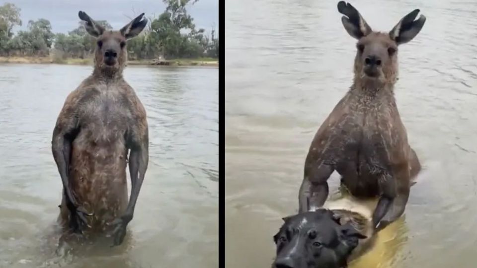
[[[53,131],[63,184],[59,221],[74,233],[112,231],[117,246],[133,219],[149,161],[146,111],[123,78],[126,40],[141,33],[147,19],[142,13],[121,30],[106,31],[85,12],[78,15],[97,42],[94,70],[68,95]]]

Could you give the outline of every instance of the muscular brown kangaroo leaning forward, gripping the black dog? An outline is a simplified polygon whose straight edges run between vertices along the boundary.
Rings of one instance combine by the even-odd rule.
[[[345,30],[358,40],[354,79],[319,127],[305,160],[299,211],[321,207],[336,170],[355,197],[379,196],[373,226],[383,228],[404,212],[419,159],[407,142],[397,111],[397,47],[411,41],[426,20],[415,9],[389,32],[376,32],[351,4],[338,2]]]

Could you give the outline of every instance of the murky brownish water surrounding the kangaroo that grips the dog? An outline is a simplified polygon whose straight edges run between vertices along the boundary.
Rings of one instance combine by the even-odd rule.
[[[230,0],[226,6],[226,263],[269,267],[281,217],[298,208],[319,125],[351,85],[355,40],[337,1]],[[376,30],[414,8],[427,21],[400,47],[397,105],[423,171],[405,215],[352,268],[475,267],[477,5],[352,2]],[[330,193],[338,177],[329,180]]]

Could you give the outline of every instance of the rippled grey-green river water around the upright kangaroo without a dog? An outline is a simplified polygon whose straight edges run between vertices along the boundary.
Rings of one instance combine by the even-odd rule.
[[[91,71],[0,65],[0,267],[217,267],[217,68],[126,68],[150,135],[129,235],[119,248],[108,240],[55,255],[62,184],[51,135],[66,96]]]

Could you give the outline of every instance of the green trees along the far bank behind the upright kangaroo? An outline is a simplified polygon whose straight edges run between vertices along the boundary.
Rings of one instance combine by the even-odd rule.
[[[148,18],[145,30],[128,41],[130,59],[172,58],[218,58],[219,39],[212,29],[208,34],[204,29],[196,29],[193,18],[187,14],[186,6],[197,0],[162,0],[166,9],[157,18]],[[86,33],[82,22],[79,27],[64,33],[53,33],[48,19],[28,21],[26,31],[12,32],[14,26],[21,26],[21,9],[13,3],[0,6],[0,56],[48,56],[61,55],[63,58],[87,58],[95,48],[95,40]],[[97,21],[106,29],[111,25]]]

